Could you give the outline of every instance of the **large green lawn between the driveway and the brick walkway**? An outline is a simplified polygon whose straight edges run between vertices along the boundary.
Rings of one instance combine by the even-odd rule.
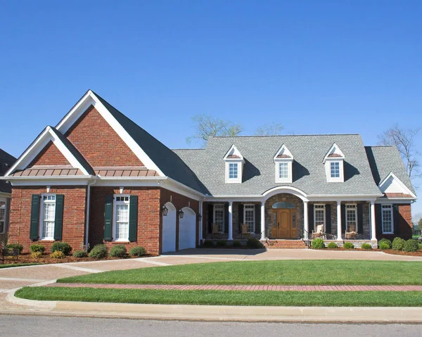
[[[276,260],[118,270],[59,279],[102,284],[421,285],[422,262]]]

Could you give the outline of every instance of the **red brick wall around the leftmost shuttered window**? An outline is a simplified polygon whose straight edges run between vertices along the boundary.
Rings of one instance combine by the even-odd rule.
[[[32,194],[46,193],[41,186],[13,187],[9,242],[21,243],[24,251],[29,252],[32,243],[46,247],[48,253],[54,241],[31,241],[31,202]],[[63,207],[63,242],[68,242],[74,250],[82,248],[85,233],[86,186],[51,186],[50,193],[64,194]]]

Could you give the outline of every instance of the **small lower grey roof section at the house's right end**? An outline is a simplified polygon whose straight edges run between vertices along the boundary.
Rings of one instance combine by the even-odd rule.
[[[369,165],[371,165],[373,180],[377,185],[388,177],[388,174],[393,173],[410,191],[416,194],[397,147],[365,146],[365,151]]]

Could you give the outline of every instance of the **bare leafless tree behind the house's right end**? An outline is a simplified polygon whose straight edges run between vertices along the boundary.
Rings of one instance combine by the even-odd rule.
[[[378,135],[378,144],[397,146],[400,155],[406,164],[407,174],[411,177],[412,172],[416,172],[418,163],[418,151],[414,148],[414,136],[418,134],[420,128],[417,129],[401,129],[399,125],[395,125]]]

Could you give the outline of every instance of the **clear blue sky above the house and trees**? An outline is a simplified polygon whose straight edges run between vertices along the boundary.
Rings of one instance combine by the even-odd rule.
[[[170,148],[198,113],[373,145],[422,126],[421,16],[410,0],[1,1],[0,148],[20,155],[87,89]]]

